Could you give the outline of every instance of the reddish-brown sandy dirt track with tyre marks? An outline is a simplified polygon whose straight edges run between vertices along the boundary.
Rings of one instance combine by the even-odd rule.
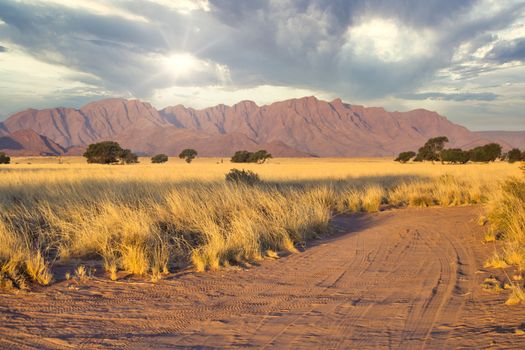
[[[0,348],[524,348],[525,307],[481,288],[480,210],[340,217],[341,234],[249,269],[2,295]]]

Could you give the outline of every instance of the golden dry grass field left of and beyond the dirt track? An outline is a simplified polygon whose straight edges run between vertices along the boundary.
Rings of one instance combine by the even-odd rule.
[[[232,168],[252,170],[263,183],[226,183]],[[83,259],[102,261],[111,279],[122,271],[157,280],[185,266],[217,269],[294,252],[328,233],[339,213],[486,203],[520,174],[502,162],[208,158],[108,166],[16,158],[0,167],[0,280],[46,285],[62,278],[53,276],[55,264]]]

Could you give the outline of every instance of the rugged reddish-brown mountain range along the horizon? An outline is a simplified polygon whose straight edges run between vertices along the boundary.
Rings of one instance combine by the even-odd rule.
[[[313,96],[258,106],[161,110],[139,100],[104,99],[80,109],[27,109],[0,123],[0,150],[11,155],[78,155],[93,142],[114,140],[132,151],[176,155],[194,148],[202,156],[231,156],[266,149],[282,157],[374,157],[417,150],[445,135],[447,147],[498,142],[525,148],[525,131],[473,132],[436,112],[388,112]]]

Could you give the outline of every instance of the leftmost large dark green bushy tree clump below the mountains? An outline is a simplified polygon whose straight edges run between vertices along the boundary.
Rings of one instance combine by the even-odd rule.
[[[84,157],[88,163],[121,164],[138,163],[138,157],[129,149],[122,149],[117,142],[102,141],[88,146]]]

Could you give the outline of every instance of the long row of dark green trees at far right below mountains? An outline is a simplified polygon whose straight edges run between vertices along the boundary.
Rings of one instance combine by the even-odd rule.
[[[494,162],[496,159],[506,160],[510,163],[525,160],[525,151],[521,152],[514,148],[503,154],[502,148],[497,143],[489,143],[470,150],[460,148],[445,149],[445,143],[449,142],[446,136],[433,137],[429,139],[418,152],[407,151],[399,153],[395,159],[397,162],[406,163],[413,159],[414,162],[439,161],[442,163],[466,164],[468,162]]]

